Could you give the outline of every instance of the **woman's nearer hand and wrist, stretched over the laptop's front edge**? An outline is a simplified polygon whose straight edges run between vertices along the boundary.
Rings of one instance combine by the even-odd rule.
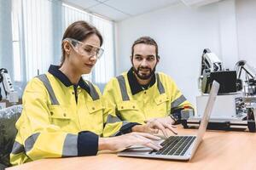
[[[162,146],[153,140],[160,140],[160,138],[149,133],[126,133],[117,137],[100,138],[98,150],[123,150],[134,144],[160,150]]]

